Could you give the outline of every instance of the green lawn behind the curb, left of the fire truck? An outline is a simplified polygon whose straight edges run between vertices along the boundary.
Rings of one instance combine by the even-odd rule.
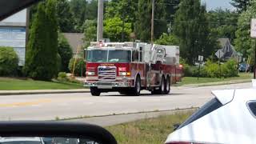
[[[0,78],[0,90],[70,90],[82,89],[82,84],[70,82],[44,82],[32,79]]]

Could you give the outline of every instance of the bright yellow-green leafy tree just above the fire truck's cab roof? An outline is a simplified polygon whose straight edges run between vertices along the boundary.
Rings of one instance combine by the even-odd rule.
[[[124,23],[124,40],[130,41],[131,23]],[[104,22],[104,34],[112,42],[121,42],[122,40],[122,19],[115,17],[106,19]]]

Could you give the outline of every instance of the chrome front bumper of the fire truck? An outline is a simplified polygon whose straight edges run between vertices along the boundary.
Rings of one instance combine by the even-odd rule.
[[[84,83],[86,87],[98,87],[98,88],[115,88],[115,87],[131,87],[131,82],[98,82],[87,81]]]

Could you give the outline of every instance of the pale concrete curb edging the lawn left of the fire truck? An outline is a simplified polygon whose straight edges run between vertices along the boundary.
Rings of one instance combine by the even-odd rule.
[[[24,94],[75,94],[90,93],[89,89],[82,90],[0,90],[0,95],[24,95]]]

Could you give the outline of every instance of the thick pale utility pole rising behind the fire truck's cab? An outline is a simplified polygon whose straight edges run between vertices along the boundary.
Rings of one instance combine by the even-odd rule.
[[[98,0],[97,42],[103,38],[103,0]]]

